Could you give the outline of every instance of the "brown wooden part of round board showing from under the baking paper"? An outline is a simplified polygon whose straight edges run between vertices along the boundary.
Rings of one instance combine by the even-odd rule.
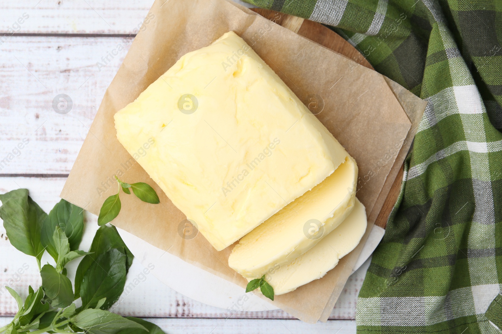
[[[362,66],[374,70],[369,62],[357,51],[350,43],[345,41],[340,35],[336,34],[329,28],[310,20],[302,19],[296,16],[279,13],[276,11],[266,10],[262,8],[252,8],[252,11],[260,14],[266,19],[274,21],[276,24],[295,32],[296,34],[308,38],[309,40],[318,43],[328,49],[331,49],[349,59],[354,60]],[[401,180],[403,180],[403,166],[399,170],[396,179],[393,182],[391,190],[387,195],[384,206],[380,210],[376,218],[375,225],[385,228],[387,219],[391,214],[392,208],[396,203],[401,188]]]

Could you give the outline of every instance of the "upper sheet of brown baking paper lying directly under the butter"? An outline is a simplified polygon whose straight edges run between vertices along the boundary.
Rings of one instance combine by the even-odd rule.
[[[113,175],[123,174],[127,182],[148,182],[161,204],[121,196],[122,209],[113,224],[244,289],[247,281],[227,264],[232,246],[218,252],[200,233],[190,240],[180,237],[178,226],[185,215],[120,145],[113,122],[115,112],[134,101],[182,55],[233,30],[304,103],[313,94],[322,97],[324,109],[317,117],[355,158],[359,177],[367,179],[373,171],[357,192],[371,212],[411,125],[382,75],[354,66],[351,60],[225,0],[158,0],[148,17],[148,25],[142,27],[106,90],[62,198],[97,215],[103,201],[117,191]],[[323,278],[276,296],[273,304],[301,320],[316,322],[335,288],[348,277],[341,264],[357,255],[356,251],[347,255]]]

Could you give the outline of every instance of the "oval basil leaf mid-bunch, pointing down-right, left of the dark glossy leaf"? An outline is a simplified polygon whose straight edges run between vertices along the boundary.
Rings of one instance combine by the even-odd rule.
[[[71,305],[74,295],[68,277],[57,272],[50,264],[42,267],[40,276],[42,276],[42,288],[46,295],[44,300],[49,301],[49,304],[56,308]]]

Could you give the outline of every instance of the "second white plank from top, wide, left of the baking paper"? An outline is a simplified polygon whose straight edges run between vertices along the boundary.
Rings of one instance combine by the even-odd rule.
[[[12,37],[3,45],[1,174],[69,173],[131,42],[130,38]],[[123,50],[113,59],[101,59],[117,46]],[[97,62],[107,64],[98,68]],[[73,102],[67,114],[53,109],[58,94]],[[18,152],[24,139],[28,144]],[[5,158],[9,161],[2,163]]]

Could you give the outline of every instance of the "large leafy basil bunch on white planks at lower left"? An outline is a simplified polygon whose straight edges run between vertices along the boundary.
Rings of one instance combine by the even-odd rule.
[[[126,188],[133,187],[124,184]],[[11,244],[35,256],[39,268],[45,250],[56,263],[40,268],[42,286],[37,291],[29,286],[25,300],[6,286],[19,310],[11,323],[0,328],[0,333],[165,334],[151,322],[107,310],[122,294],[134,258],[114,226],[101,226],[85,252],[78,249],[83,209],[61,200],[47,215],[27,189],[0,195],[0,200],[0,218]],[[65,266],[81,256],[73,291]],[[78,298],[82,299],[82,306],[77,308]]]

